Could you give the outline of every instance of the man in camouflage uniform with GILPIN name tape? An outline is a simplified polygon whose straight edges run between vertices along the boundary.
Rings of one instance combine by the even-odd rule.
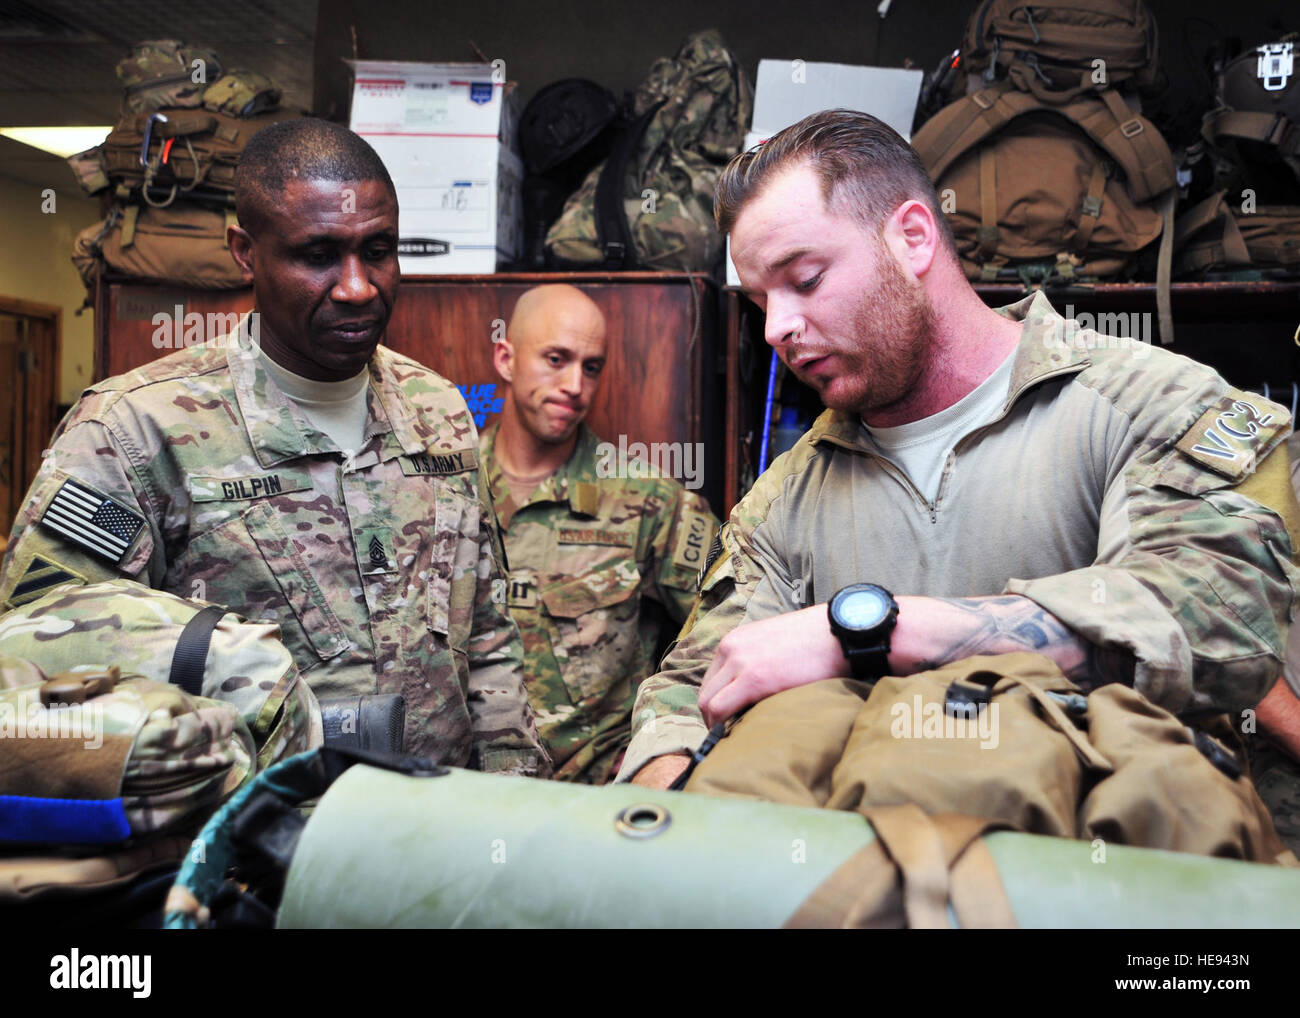
[[[549,772],[469,412],[378,346],[399,281],[384,164],[346,129],[286,121],[244,151],[237,204],[259,328],[83,394],[0,601],[122,576],[225,605],[278,623],[318,697],[400,693],[408,753]]]

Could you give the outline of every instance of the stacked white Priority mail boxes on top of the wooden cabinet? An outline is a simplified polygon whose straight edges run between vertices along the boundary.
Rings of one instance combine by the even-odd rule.
[[[523,247],[514,96],[490,64],[352,65],[351,127],[398,191],[403,276],[490,273]]]

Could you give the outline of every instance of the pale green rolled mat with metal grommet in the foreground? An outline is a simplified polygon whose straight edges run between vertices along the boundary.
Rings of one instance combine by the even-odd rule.
[[[308,820],[277,924],[779,927],[872,839],[853,813],[359,764]],[[1022,927],[1300,924],[1297,870],[1011,832],[984,840]]]

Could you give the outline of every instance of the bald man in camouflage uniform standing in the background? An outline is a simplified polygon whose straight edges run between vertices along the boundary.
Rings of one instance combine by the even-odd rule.
[[[494,358],[506,400],[480,450],[506,532],[529,699],[555,776],[602,784],[670,620],[676,632],[690,611],[718,521],[672,477],[616,476],[610,446],[582,423],[604,365],[604,319],[581,290],[525,293]]]

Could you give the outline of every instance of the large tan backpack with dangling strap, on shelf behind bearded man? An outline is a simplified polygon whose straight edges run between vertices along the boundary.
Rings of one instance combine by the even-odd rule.
[[[941,109],[913,147],[971,280],[1117,276],[1161,239],[1161,338],[1170,341],[1174,159],[1118,92],[1045,103],[1002,82]]]

